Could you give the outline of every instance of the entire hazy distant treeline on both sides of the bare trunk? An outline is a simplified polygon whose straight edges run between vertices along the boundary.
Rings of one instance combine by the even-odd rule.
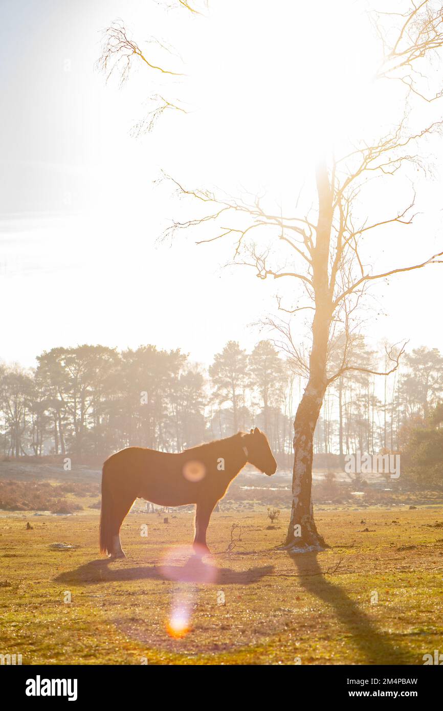
[[[384,354],[369,351],[363,340],[358,348],[361,362],[383,369]],[[180,349],[152,345],[53,348],[36,360],[33,370],[0,365],[4,457],[66,454],[88,461],[131,445],[180,451],[258,426],[289,464],[305,383],[270,341],[250,353],[230,341],[208,369]],[[398,451],[410,427],[425,427],[442,392],[436,348],[405,354],[386,378],[348,371],[326,393],[314,449]]]

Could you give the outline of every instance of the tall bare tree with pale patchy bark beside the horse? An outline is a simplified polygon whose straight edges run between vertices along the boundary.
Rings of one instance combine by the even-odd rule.
[[[196,201],[200,211],[195,218],[175,222],[167,230],[169,234],[183,228],[207,230],[214,223],[215,233],[201,242],[233,238],[235,262],[255,269],[260,279],[292,281],[294,292],[301,294],[302,300],[294,308],[285,308],[279,300],[281,311],[291,315],[312,312],[307,358],[294,343],[290,326],[274,323],[284,333],[294,368],[307,381],[294,419],[292,513],[286,539],[292,552],[319,550],[326,545],[316,530],[311,501],[314,429],[326,388],[350,370],[392,373],[404,350],[404,346],[388,348],[389,365],[384,373],[355,362],[352,343],[361,300],[373,282],[442,262],[443,252],[438,252],[416,264],[397,262],[383,272],[374,273],[361,254],[363,237],[389,225],[410,225],[415,216],[414,191],[402,207],[380,218],[373,217],[373,201],[364,200],[363,188],[374,176],[393,178],[407,166],[422,167],[417,144],[442,127],[441,121],[429,119],[420,129],[414,129],[409,121],[412,102],[420,100],[428,105],[442,96],[439,86],[429,94],[429,76],[424,73],[431,66],[429,60],[443,46],[442,3],[412,1],[405,7],[402,13],[371,16],[383,50],[376,80],[400,82],[404,87],[402,117],[378,139],[362,139],[346,154],[325,154],[319,160],[311,191],[314,207],[301,211],[297,201],[291,213],[278,213],[267,209],[260,197],[230,198],[208,189],[187,188],[181,181],[173,180],[176,191]],[[272,248],[260,246],[255,239],[259,230],[269,232],[272,244],[281,247],[283,243],[287,247],[289,268],[279,264],[281,250],[273,252]],[[344,335],[343,351],[338,366],[331,371],[328,368],[331,346],[340,333]]]

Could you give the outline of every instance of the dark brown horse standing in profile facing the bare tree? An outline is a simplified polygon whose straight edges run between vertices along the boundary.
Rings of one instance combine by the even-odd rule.
[[[103,465],[100,550],[112,557],[124,557],[120,526],[138,497],[159,506],[195,503],[193,546],[197,552],[208,552],[210,514],[247,463],[268,476],[277,469],[267,437],[257,427],[250,434],[239,432],[179,454],[144,447],[117,451]]]

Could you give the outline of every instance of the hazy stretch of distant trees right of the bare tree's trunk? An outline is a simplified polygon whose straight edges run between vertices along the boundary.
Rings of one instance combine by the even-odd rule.
[[[359,339],[359,364],[387,372],[385,353],[371,351]],[[437,348],[415,348],[388,376],[350,370],[326,391],[316,428],[318,452],[400,451],[414,426],[424,426],[443,402],[443,358]],[[443,458],[443,453],[442,453]]]

